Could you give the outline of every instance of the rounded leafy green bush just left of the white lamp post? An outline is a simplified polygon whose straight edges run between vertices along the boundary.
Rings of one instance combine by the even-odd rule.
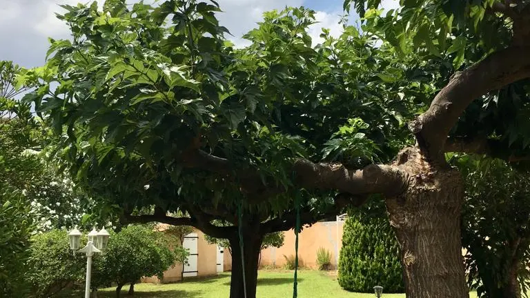
[[[82,244],[81,244],[82,245]],[[96,260],[99,256],[96,255]],[[35,297],[53,297],[64,288],[84,280],[86,257],[74,253],[68,244],[68,232],[51,230],[32,237],[31,257],[26,279]]]

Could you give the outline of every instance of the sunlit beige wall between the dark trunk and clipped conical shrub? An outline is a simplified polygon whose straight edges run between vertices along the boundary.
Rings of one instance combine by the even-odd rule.
[[[311,228],[304,228],[298,237],[298,258],[301,260],[301,265],[307,268],[317,268],[317,250],[322,247],[331,253],[331,264],[335,267],[337,251],[340,251],[342,246],[343,228],[344,221],[318,222]],[[260,266],[284,266],[284,255],[287,257],[295,255],[293,230],[285,232],[285,241],[281,248],[262,250]]]

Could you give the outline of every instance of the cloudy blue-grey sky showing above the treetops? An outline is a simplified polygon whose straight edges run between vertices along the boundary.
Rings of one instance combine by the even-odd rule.
[[[104,0],[98,0],[100,3]],[[129,0],[133,3],[135,0]],[[12,60],[20,66],[31,68],[44,63],[48,49],[48,37],[68,38],[67,26],[55,17],[63,12],[59,4],[75,5],[86,0],[0,0],[0,60]],[[91,2],[91,1],[90,1]],[[148,3],[148,1],[145,1]],[[317,13],[319,23],[310,30],[314,41],[320,39],[322,28],[337,36],[341,33],[338,24],[342,14],[343,0],[217,0],[224,12],[218,15],[219,22],[233,34],[236,46],[244,46],[242,35],[257,26],[263,12],[281,10],[285,6],[305,6]],[[397,0],[383,0],[386,9],[398,6]],[[350,20],[354,21],[354,20]]]

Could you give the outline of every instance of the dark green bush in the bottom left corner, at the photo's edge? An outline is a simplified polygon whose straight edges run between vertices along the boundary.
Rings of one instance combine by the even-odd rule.
[[[0,297],[23,297],[25,293],[23,274],[35,229],[29,213],[19,192],[8,188],[0,192]]]

